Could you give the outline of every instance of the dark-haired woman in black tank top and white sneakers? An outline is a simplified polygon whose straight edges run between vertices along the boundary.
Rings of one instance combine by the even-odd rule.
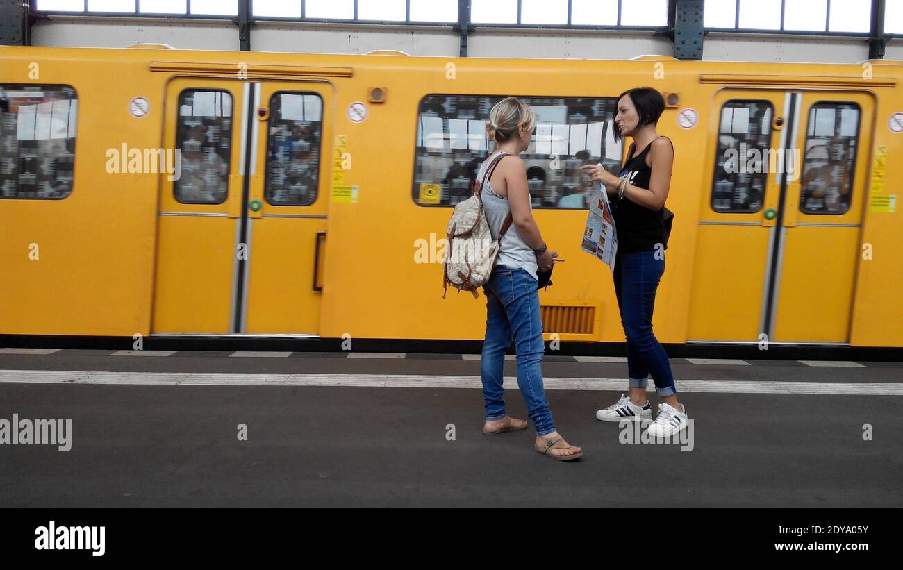
[[[648,427],[655,437],[669,437],[687,425],[684,405],[677,401],[674,375],[665,348],[652,332],[652,313],[658,282],[665,272],[667,223],[665,200],[671,186],[674,146],[656,133],[665,99],[656,89],[637,87],[618,97],[615,124],[618,137],[633,143],[619,176],[600,165],[582,167],[609,193],[618,232],[614,285],[621,325],[627,338],[629,397],[596,412],[602,421],[652,418],[646,397],[648,376],[662,402]]]

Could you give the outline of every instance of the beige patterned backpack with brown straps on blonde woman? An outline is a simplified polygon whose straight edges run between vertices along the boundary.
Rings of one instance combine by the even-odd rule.
[[[498,239],[492,236],[486,213],[483,211],[483,184],[496,170],[508,152],[500,152],[489,163],[483,179],[473,181],[473,196],[454,207],[452,219],[445,228],[449,245],[445,251],[442,276],[442,299],[451,284],[457,290],[468,290],[474,299],[479,298],[477,288],[485,285],[492,275],[498,253],[501,251],[501,239],[511,226],[511,213],[508,212],[505,223],[501,227]]]

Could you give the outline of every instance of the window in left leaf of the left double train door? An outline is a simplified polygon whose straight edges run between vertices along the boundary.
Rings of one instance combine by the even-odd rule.
[[[175,148],[182,172],[172,188],[182,204],[222,204],[228,189],[232,96],[186,89],[179,95]]]

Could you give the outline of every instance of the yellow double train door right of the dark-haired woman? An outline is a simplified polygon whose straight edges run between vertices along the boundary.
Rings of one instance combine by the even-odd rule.
[[[871,108],[841,91],[715,96],[689,340],[849,339]]]

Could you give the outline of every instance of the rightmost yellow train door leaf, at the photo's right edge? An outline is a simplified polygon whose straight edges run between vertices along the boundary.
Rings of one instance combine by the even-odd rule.
[[[869,179],[870,94],[803,91],[796,176],[781,196],[763,331],[775,342],[847,343]]]

